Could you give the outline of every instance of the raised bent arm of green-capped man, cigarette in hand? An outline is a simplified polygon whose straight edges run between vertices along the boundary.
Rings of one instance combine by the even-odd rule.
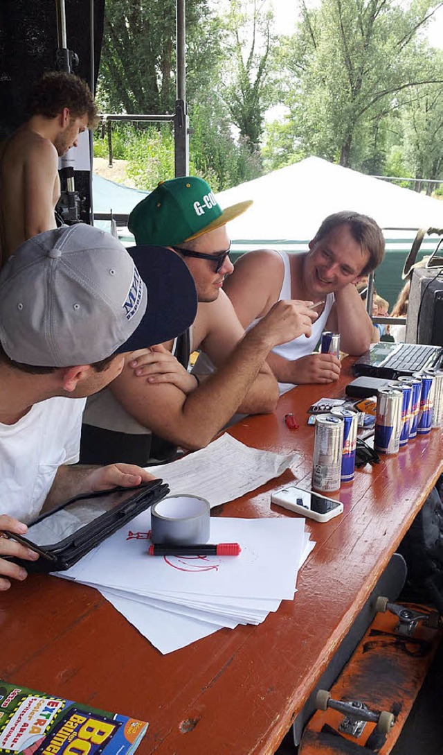
[[[212,304],[216,303],[209,306]],[[291,327],[298,333],[310,330],[310,310],[291,302],[279,304],[278,310],[244,335],[221,367],[188,396],[171,384],[149,385],[128,366],[112,381],[112,393],[126,411],[157,435],[185,448],[202,448],[243,405],[270,349],[282,342],[283,332]],[[218,323],[224,322],[221,315],[228,311],[229,307],[225,309],[223,304],[212,307]],[[204,347],[209,356],[214,355],[217,339],[210,328]],[[226,348],[225,342],[221,344],[216,362]]]

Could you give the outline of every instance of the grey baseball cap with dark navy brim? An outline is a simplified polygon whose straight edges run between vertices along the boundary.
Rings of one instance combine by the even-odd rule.
[[[177,254],[128,252],[83,223],[28,239],[0,273],[0,342],[27,365],[93,364],[160,344],[196,313],[194,280]]]

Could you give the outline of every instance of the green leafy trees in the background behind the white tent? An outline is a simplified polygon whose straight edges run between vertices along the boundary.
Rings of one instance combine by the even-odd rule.
[[[187,0],[191,171],[221,190],[316,155],[440,178],[443,58],[425,32],[443,2],[307,3],[277,39],[270,0]],[[101,108],[173,112],[175,0],[106,0],[105,14]],[[286,115],[266,123],[274,103]],[[170,127],[128,128],[119,149],[137,185],[171,176]]]

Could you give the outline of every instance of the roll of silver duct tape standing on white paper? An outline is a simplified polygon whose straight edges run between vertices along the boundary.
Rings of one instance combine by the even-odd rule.
[[[151,507],[153,543],[207,543],[209,525],[209,503],[196,495],[170,495]]]

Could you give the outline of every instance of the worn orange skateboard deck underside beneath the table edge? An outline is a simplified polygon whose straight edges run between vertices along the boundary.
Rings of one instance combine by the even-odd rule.
[[[435,622],[435,612],[414,603],[397,609],[411,609],[426,614]],[[435,622],[438,623],[438,622]],[[396,632],[399,616],[386,611],[375,615],[374,621],[331,686],[333,698],[325,707],[328,694],[322,696],[322,707],[316,710],[304,729],[299,755],[387,755],[399,738],[408,713],[423,684],[426,672],[441,641],[441,628],[433,629],[419,621],[410,635]],[[333,707],[334,701],[363,703],[374,713],[393,713],[392,728],[380,731],[390,718],[383,713],[380,723],[366,721],[362,731],[355,731],[355,718]],[[357,716],[358,717],[358,716]],[[374,716],[373,716],[374,717]],[[377,716],[375,716],[377,718]],[[391,719],[392,720],[392,719]],[[383,726],[381,726],[383,729]],[[349,733],[353,731],[353,733]]]

